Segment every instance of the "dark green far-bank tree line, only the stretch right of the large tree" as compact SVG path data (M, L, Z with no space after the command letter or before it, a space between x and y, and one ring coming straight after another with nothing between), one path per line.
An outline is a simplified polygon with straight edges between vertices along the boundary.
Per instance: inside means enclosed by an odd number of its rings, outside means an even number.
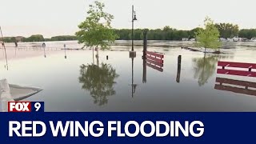
M239 30L238 25L231 23L215 23L214 24L220 33L220 38L234 38L238 36L240 38L254 38L256 37L256 29L242 29ZM163 29L148 30L147 38L149 40L182 40L182 38L195 38L196 32L202 30L202 28L197 27L193 30L177 30L170 28L170 26L165 26ZM131 39L131 30L121 29L115 30L119 36L119 40L130 40ZM135 29L134 30L134 40L143 39L143 30Z

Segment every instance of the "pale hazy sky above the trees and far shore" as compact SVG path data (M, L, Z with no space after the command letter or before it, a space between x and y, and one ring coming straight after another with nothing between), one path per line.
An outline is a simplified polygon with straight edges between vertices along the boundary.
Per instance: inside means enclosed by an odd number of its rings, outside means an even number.
M202 26L206 15L214 22L256 28L254 0L99 0L114 15L114 28L130 28L131 5L138 16L135 28L171 26L190 30ZM4 36L74 34L94 0L1 0L0 26Z

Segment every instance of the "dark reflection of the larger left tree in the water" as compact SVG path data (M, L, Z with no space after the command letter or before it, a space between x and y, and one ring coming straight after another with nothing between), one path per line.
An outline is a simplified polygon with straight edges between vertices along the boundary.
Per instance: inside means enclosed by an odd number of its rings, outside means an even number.
M114 95L114 82L118 78L116 70L106 63L100 66L94 64L80 66L79 82L82 89L89 90L94 98L94 103L103 106L108 102L107 97Z

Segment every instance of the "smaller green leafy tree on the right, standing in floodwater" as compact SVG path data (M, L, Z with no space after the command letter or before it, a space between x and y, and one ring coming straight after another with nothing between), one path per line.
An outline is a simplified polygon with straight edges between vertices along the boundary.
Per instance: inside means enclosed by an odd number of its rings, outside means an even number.
M218 50L222 43L219 42L219 31L209 17L204 21L204 29L199 29L196 33L196 46Z

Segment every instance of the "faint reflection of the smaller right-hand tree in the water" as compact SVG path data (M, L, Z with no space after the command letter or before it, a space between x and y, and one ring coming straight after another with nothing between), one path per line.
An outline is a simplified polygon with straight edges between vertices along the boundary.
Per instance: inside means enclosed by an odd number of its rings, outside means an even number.
M194 78L198 78L198 85L203 86L208 79L216 71L216 64L218 62L218 55L204 56L204 58L194 58Z

